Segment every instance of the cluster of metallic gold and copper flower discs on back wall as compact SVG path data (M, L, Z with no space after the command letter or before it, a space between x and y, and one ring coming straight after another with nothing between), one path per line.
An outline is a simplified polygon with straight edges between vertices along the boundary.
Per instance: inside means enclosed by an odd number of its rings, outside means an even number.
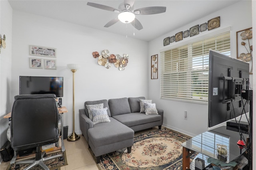
M92 52L92 56L98 58L98 64L105 66L106 69L109 69L111 63L114 63L115 67L118 67L120 71L123 71L128 63L129 56L127 54L123 54L123 57L121 57L119 54L110 54L107 49L103 50L101 54L102 55L100 55L98 51Z

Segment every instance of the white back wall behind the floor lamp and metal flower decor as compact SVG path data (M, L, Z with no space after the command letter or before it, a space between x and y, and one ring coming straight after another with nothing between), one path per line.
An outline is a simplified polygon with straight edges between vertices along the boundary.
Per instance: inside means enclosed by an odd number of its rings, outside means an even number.
M126 30L124 30L126 31ZM85 101L121 97L138 97L148 94L147 57L148 42L126 38L75 24L13 11L13 51L11 99L19 94L19 76L63 76L64 97L62 105L64 126L72 132L72 72L68 63L79 63L81 68L75 73L75 131L81 134L78 109L84 108ZM57 48L57 69L30 69L30 45ZM119 71L112 64L110 69L98 65L92 57L93 51L101 53L108 49L110 53L129 55L128 65ZM47 57L40 57L47 58Z

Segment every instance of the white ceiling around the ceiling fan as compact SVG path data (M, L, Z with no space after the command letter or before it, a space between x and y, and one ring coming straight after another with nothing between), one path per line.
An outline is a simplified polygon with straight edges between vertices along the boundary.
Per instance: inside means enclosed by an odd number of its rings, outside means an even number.
M87 2L113 8L123 0L9 0L14 10L54 18L81 26L95 28L114 34L150 41L178 29L208 14L230 6L239 0L135 0L134 8L166 6L166 12L154 15L136 15L143 29L138 31L131 24L118 22L109 28L104 25L116 18L118 13L87 6ZM217 16L216 16L217 17ZM211 18L209 18L211 19ZM200 24L200 23L199 23Z

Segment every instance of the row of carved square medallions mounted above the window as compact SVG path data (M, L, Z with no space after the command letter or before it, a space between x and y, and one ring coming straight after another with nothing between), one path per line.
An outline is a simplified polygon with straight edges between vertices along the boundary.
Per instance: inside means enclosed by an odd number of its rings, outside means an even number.
M206 31L208 29L212 30L214 28L220 27L220 17L212 18L207 23L192 26L189 30L186 30L184 32L178 32L175 34L175 36L164 38L164 46L169 45L172 42L178 42L180 40L183 40L183 38L187 38L188 36L196 36L200 32Z

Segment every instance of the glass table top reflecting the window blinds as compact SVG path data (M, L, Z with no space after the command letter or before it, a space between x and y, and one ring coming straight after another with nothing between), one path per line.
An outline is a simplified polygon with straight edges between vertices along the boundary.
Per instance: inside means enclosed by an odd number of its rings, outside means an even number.
M243 134L248 137L248 134ZM229 163L238 158L245 148L238 148L239 132L226 129L226 126L214 128L199 134L182 144L183 147L202 153L210 158Z

